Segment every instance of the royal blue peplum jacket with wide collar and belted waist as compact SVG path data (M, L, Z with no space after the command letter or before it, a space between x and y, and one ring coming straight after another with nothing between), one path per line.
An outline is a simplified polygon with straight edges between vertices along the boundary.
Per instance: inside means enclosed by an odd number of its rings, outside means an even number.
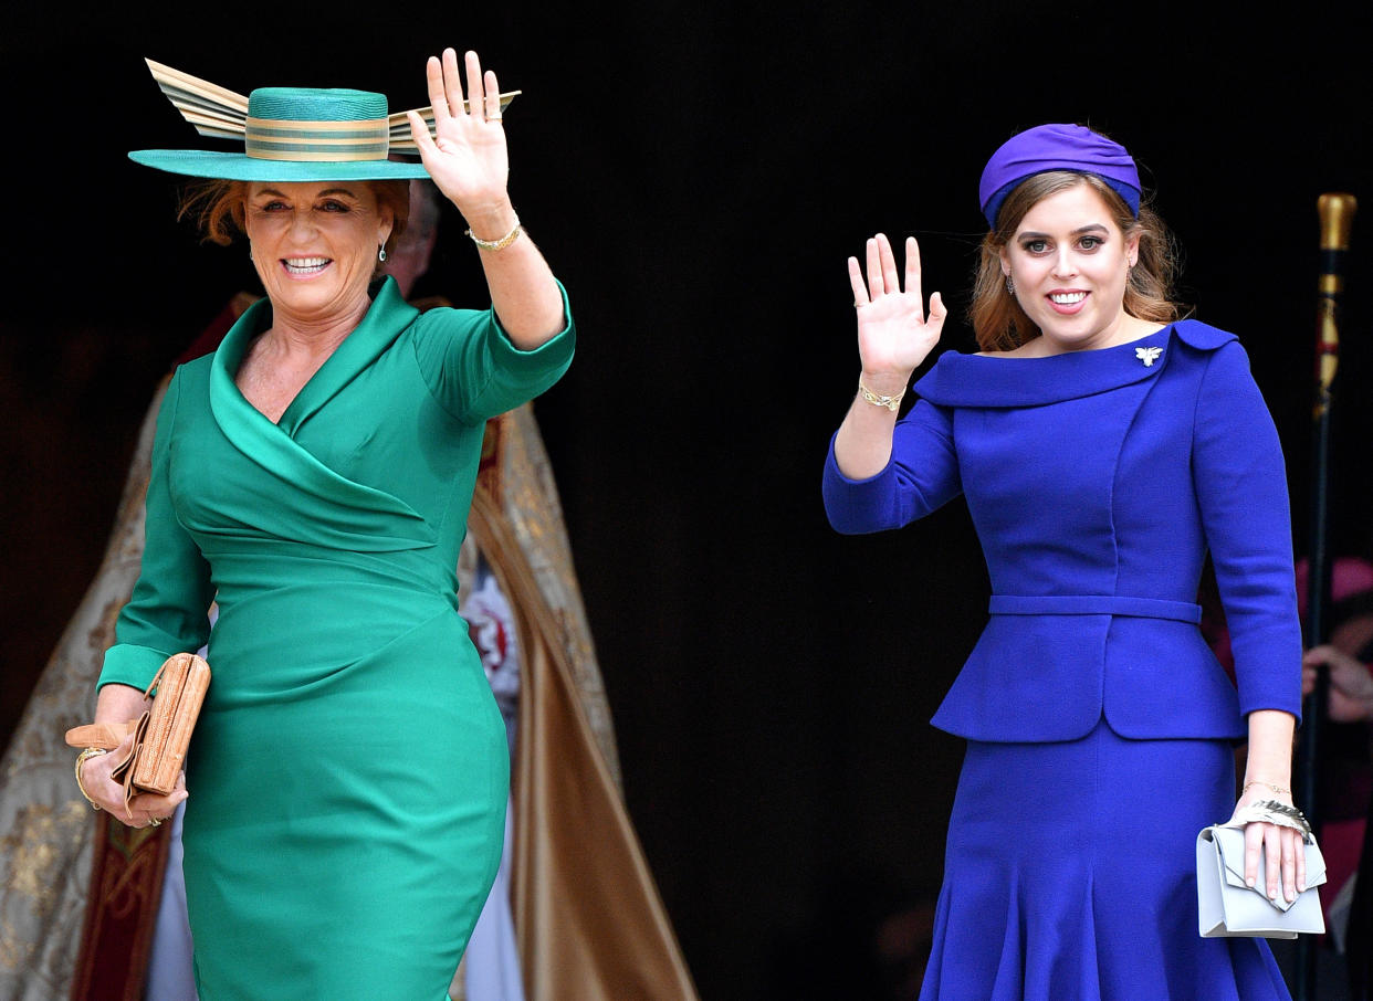
M1157 349L1157 350L1155 350ZM843 533L894 529L960 493L990 621L934 725L971 740L1245 736L1300 714L1302 634L1282 453L1233 334L1182 320L1045 358L945 353L892 459L824 474ZM1215 563L1238 691L1197 629Z

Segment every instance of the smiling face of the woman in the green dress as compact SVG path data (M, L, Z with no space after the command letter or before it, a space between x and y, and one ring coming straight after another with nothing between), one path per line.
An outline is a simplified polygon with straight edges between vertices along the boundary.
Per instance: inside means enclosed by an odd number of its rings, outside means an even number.
M365 309L393 213L367 181L253 183L244 229L279 319L320 324Z

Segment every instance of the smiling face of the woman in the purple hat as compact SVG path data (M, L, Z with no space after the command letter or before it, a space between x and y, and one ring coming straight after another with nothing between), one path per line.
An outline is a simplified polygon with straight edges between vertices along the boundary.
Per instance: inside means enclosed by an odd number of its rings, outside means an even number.
M1046 347L1108 347L1138 336L1124 312L1138 250L1138 236L1126 236L1083 181L1031 206L1001 250L1001 271Z

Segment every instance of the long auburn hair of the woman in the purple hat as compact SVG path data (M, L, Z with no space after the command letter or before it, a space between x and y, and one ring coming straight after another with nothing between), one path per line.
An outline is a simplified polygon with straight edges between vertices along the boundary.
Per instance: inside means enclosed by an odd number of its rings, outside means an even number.
M1155 323L1173 323L1182 314L1182 308L1173 301L1173 280L1178 268L1173 235L1153 209L1141 203L1137 218L1126 200L1096 174L1046 170L1027 177L1006 195L997 211L997 225L982 238L982 257L968 309L982 350L1009 352L1039 335L1039 328L1006 288L1001 251L1015 238L1026 213L1049 195L1079 184L1086 184L1101 198L1126 239L1140 238L1140 255L1124 286L1124 312Z

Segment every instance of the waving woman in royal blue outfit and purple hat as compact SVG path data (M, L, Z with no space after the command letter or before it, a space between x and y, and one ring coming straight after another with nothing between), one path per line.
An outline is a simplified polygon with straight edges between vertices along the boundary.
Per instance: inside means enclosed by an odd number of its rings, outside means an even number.
M1167 235L1119 144L1030 129L980 203L982 350L945 353L899 422L947 310L935 292L925 313L914 239L903 276L880 233L850 258L862 375L824 476L844 533L964 494L991 578L934 718L968 751L921 998L1287 998L1260 939L1200 938L1193 847L1292 802L1302 641L1273 420L1234 335L1177 319ZM1197 630L1207 551L1237 689ZM1251 883L1304 888L1295 829L1249 822L1245 843Z

